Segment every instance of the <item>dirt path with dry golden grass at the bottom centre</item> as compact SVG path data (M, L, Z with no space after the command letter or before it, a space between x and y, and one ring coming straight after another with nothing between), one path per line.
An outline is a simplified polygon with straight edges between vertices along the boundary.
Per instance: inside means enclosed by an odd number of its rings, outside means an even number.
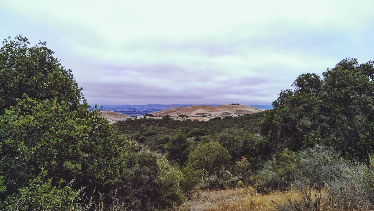
M229 190L205 190L200 195L194 196L192 199L184 202L177 211L187 210L210 210L219 207L221 204L233 202L239 198L246 196L248 193L245 189L229 189Z

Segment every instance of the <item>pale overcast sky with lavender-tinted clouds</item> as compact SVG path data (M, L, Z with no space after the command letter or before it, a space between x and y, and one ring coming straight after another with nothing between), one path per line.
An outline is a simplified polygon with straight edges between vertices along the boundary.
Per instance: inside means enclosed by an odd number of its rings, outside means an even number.
M298 75L374 60L374 1L0 0L90 104L271 104Z

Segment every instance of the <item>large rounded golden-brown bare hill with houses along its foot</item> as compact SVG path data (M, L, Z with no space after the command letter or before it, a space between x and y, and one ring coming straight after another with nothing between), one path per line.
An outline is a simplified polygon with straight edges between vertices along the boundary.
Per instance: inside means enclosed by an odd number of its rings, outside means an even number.
M223 117L223 116L241 116L244 114L254 114L264 111L260 108L242 105L221 105L221 106L187 106L168 108L161 111L153 112L154 116L180 116L187 115L188 117Z

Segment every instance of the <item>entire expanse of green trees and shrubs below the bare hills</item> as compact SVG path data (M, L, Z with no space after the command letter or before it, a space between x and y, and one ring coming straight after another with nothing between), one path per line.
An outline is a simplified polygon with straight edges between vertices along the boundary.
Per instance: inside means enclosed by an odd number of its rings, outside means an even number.
M0 76L0 210L170 210L237 187L297 191L279 210L374 207L373 62L302 74L257 114L114 126L45 42L5 40Z

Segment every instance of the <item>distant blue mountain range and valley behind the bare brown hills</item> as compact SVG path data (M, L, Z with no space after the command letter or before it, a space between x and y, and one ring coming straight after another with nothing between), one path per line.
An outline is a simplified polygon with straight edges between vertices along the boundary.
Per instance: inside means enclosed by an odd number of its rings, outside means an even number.
M201 106L219 106L220 104L199 104ZM153 113L168 108L186 107L186 106L197 106L196 104L146 104L146 105L98 105L102 106L102 111L116 111L122 114L135 117L143 114ZM261 109L272 109L270 105L248 105L255 108Z

